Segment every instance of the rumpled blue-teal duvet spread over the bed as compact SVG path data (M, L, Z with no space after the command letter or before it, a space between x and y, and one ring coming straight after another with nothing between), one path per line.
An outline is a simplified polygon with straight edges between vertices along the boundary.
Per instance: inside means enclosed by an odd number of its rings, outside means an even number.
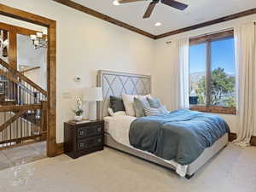
M229 126L217 115L177 110L135 119L129 139L135 148L189 165L228 132Z

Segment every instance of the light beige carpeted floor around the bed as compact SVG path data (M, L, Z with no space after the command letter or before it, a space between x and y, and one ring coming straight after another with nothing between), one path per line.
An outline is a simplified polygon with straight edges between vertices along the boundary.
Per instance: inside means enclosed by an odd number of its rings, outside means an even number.
M20 185L22 180L15 176L29 178ZM78 160L61 155L26 164L21 169L1 171L0 191L255 192L256 148L230 144L190 180L110 148Z

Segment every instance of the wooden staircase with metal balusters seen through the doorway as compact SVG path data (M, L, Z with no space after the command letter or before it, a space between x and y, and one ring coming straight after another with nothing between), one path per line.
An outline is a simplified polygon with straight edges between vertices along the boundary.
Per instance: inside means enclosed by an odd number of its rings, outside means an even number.
M0 58L0 149L45 140L47 91Z

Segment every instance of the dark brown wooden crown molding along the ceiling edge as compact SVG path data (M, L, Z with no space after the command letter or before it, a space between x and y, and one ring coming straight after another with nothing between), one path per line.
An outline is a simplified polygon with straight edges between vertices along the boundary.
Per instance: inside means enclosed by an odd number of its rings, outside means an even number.
M160 34L160 35L153 35L149 32L145 32L142 29L139 29L135 26L131 26L131 25L125 23L125 22L122 22L120 20L116 20L116 19L114 19L114 18L112 18L108 15L104 15L104 14L102 14L102 13L100 13L100 12L94 10L94 9L87 8L84 5L81 5L79 3L75 3L71 0L53 0L53 1L55 1L56 3L61 3L63 5L66 5L67 7L77 9L81 12L84 12L84 14L92 15L92 16L98 18L98 19L110 22L113 25L123 27L127 30L130 30L132 32L137 32L137 33L139 33L143 36L146 36L148 38L152 38L152 39L155 39L155 40L160 39L160 38L166 38L166 37L176 35L176 34L182 33L182 32L189 32L189 31L199 29L199 28L202 28L202 27L205 27L205 26L212 26L212 25L222 23L222 22L225 22L225 21L228 21L228 20L235 20L235 19L238 19L238 18L241 18L241 17L244 17L244 16L256 14L256 8L248 9L248 10L245 10L245 11L233 14L233 15L227 15L227 16L215 19L215 20L209 20L209 21L206 21L206 22L202 22L202 23L196 24L194 26L187 26L187 27L184 27L182 29L177 29L177 30L174 30L174 31L171 31L171 32L165 32L165 33Z

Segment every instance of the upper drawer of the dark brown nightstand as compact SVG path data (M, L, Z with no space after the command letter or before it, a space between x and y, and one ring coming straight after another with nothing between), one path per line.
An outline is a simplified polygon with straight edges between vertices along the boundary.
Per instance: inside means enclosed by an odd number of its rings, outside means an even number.
M78 138L92 137L102 134L102 125L78 128Z

